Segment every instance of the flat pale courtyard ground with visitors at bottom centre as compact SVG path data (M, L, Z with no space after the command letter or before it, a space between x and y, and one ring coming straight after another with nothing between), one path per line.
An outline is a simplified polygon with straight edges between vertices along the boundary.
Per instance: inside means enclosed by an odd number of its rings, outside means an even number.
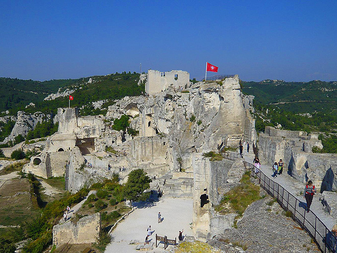
M158 224L158 212L161 213L163 221ZM112 242L107 246L105 252L139 252L136 247L143 245L147 236L147 228L151 225L153 234L150 237L151 252L162 252L162 248L155 248L156 234L175 239L181 229L183 235L193 236L191 223L193 217L192 198L170 198L163 197L154 205L139 206L124 221L119 223L111 232ZM130 243L135 244L130 244ZM163 244L160 244L163 246ZM170 247L170 246L168 246Z

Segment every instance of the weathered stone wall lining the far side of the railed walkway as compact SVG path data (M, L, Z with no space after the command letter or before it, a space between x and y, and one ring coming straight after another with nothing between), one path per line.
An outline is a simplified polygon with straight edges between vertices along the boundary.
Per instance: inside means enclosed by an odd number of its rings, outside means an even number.
M317 134L302 131L287 131L266 127L259 134L259 155L263 163L274 164L282 159L288 174L306 182L312 180L321 191L337 190L335 172L337 155L312 153L312 147L322 148Z

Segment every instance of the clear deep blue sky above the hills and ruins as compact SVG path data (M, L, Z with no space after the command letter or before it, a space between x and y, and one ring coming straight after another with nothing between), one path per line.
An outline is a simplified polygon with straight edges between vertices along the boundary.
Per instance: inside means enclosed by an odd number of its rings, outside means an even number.
M0 77L337 81L337 1L0 1ZM211 76L213 73L208 73Z

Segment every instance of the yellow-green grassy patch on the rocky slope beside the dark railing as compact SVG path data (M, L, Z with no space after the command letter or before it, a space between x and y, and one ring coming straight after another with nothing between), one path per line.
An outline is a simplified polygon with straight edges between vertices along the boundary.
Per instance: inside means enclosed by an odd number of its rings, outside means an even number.
M260 187L254 185L250 181L250 172L246 172L240 180L240 185L231 189L226 193L219 205L216 205L214 210L222 214L226 214L226 205L230 205L239 216L245 212L248 205L260 199ZM229 204L228 204L229 203Z

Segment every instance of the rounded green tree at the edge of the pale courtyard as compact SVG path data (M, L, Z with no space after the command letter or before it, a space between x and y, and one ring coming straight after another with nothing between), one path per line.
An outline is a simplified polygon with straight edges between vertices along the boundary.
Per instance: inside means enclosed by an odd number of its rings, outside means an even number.
M133 170L129 173L123 195L130 200L130 207L132 201L145 201L149 197L150 194L144 191L150 188L150 182L152 182L151 178L142 169Z

